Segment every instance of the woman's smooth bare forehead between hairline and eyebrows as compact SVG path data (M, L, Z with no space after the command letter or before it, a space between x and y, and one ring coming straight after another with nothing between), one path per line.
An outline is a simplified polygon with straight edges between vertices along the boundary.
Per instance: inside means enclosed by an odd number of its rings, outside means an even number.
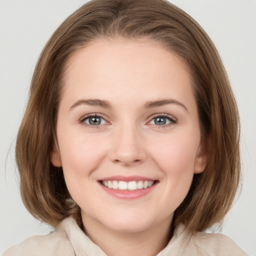
M113 94L115 98L129 94L136 97L139 93L141 100L143 96L150 100L163 98L169 85L176 88L176 97L191 90L190 72L184 61L148 39L93 41L69 58L64 77L64 93L69 96L75 91L80 97L102 98Z

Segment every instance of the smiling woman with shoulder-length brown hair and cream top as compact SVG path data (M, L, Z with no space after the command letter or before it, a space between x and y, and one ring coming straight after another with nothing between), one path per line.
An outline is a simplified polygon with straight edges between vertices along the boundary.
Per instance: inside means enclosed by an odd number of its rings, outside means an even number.
M56 230L6 255L245 255L199 232L235 195L237 116L186 13L162 0L83 5L40 55L16 143L23 202Z

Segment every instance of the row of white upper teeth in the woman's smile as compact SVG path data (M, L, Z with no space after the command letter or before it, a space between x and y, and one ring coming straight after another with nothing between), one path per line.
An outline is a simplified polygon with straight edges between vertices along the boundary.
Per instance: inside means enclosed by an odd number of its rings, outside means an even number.
M129 182L120 180L104 180L101 181L101 184L112 189L117 189L117 190L137 190L137 189L142 189L142 188L147 188L153 185L154 181L153 180L132 180Z

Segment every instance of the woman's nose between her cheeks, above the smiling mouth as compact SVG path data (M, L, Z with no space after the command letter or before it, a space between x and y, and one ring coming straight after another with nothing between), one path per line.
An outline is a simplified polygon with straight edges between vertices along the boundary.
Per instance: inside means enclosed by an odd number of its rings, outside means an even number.
M138 128L119 128L113 134L113 146L109 153L111 161L124 166L143 162L147 157L143 141L143 135Z

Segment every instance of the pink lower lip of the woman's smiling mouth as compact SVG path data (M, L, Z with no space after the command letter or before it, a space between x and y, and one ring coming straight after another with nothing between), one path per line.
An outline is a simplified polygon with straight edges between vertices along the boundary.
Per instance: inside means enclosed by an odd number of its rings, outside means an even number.
M113 188L108 188L102 185L100 182L99 184L102 187L102 189L108 194L110 194L111 196L114 196L119 199L136 199L151 192L155 188L157 182L154 182L154 184L151 185L150 187L141 188L138 190L116 190Z

